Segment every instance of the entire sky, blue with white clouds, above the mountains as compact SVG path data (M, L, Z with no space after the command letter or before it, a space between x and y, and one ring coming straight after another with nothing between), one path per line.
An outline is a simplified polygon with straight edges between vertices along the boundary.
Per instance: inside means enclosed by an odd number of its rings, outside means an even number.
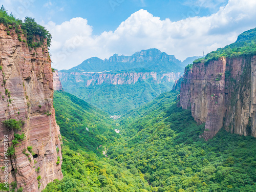
M236 41L256 27L255 0L1 0L51 32L52 67L157 48L184 60Z

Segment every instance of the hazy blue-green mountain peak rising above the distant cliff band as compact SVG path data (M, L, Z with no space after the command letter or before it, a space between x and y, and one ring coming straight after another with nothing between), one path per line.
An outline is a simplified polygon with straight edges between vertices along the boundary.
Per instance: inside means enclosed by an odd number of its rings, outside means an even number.
M181 61L174 55L167 55L158 49L148 49L136 52L132 56L114 54L109 59L102 60L92 57L84 60L80 65L70 70L61 72L102 72L130 70L134 68L145 68L154 72L182 72Z

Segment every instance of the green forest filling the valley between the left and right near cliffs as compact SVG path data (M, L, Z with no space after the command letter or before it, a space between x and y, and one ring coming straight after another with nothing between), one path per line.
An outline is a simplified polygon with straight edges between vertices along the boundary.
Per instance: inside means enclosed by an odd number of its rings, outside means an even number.
M101 117L97 129L105 122L109 126L103 128L102 135L113 138L92 137L90 143L96 145L87 148L74 142L89 133L69 138L63 131L78 133L79 129L72 128L75 119L65 129L61 124L67 116L60 110L61 103L65 101L69 113L75 114L80 99L55 92L56 119L63 140L67 140L62 149L64 179L48 184L44 191L255 191L256 139L222 130L204 141L200 138L204 124L198 125L190 111L177 107L178 94L161 94L117 121L103 118L104 113L84 102L88 113L74 118L85 122L90 116ZM113 134L114 129L120 134ZM108 157L95 148L99 144L106 147Z

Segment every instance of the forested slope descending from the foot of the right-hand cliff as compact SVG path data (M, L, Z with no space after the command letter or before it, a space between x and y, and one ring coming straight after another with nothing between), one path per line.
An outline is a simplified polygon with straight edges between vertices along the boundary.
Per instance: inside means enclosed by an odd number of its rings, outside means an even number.
M123 137L109 157L137 169L158 191L255 191L255 138L223 130L200 139L204 125L177 108L176 96L162 94L122 120Z

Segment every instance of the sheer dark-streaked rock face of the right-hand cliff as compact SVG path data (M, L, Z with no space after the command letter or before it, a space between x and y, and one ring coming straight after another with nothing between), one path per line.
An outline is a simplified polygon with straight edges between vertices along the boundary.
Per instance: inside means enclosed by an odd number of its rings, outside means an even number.
M179 106L205 122L208 140L227 131L256 137L256 56L194 63L184 74Z

